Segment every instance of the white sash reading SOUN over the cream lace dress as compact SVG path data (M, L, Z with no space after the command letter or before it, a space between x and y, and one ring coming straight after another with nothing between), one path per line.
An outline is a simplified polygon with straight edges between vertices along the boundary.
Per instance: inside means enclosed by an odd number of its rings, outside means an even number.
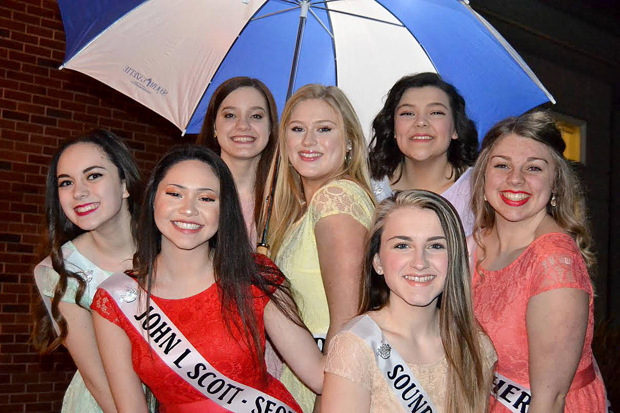
M370 346L381 374L405 412L438 412L433 401L420 385L420 381L396 349L387 343L381 328L370 316L361 315L353 318L343 330L355 333Z

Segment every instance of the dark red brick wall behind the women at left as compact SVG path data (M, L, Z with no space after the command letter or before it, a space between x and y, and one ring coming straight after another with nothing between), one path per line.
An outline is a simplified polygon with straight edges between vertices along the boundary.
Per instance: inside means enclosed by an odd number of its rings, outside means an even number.
M125 137L147 172L181 138L161 116L87 76L59 71L64 31L55 1L0 2L0 411L57 412L75 367L28 342L42 230L43 185L58 144L93 128Z

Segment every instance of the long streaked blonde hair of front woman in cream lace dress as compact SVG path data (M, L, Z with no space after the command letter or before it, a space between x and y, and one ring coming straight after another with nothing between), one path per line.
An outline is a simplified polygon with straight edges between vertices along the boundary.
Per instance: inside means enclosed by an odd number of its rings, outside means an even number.
M379 203L373 215L363 261L359 313L387 305L390 290L373 267L387 216L401 208L429 209L437 215L446 236L448 272L441 293L440 334L448 360L446 413L487 411L492 369L485 371L482 328L474 316L471 277L463 224L458 212L442 196L421 189L397 191Z

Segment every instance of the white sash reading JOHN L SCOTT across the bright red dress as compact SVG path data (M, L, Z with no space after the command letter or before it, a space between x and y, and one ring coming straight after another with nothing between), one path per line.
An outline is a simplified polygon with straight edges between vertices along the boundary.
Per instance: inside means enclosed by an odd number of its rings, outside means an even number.
M117 300L118 308L164 363L206 398L235 413L294 413L280 400L218 372L153 300L148 309L141 306L146 311L138 310L140 287L131 277L117 272L99 287ZM146 303L146 294L141 302Z

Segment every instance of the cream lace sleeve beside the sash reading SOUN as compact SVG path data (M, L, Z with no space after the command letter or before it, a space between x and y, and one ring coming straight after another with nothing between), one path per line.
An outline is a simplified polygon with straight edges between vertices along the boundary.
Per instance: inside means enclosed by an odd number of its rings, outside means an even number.
M370 390L375 366L370 347L355 334L341 331L329 342L325 372L344 377Z

